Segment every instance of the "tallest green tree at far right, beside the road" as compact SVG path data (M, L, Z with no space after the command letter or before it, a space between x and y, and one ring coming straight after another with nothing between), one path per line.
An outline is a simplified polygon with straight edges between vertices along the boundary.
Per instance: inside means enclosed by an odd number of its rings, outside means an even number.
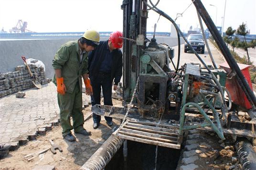
M237 28L236 34L237 35L242 35L242 36L244 36L244 38L248 34L248 31L246 30L246 24L244 24L244 22L242 23L242 25L239 25L239 27ZM246 42L246 38L245 38L245 41L242 41L242 42L238 43L238 47L242 48L246 51L247 58L248 58L248 64L250 64L250 56L249 56L249 53L248 53L248 48L250 48L250 46Z

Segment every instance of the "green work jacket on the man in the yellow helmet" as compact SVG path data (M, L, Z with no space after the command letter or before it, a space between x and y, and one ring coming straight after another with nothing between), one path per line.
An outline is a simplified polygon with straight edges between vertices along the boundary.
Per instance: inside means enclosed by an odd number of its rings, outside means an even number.
M82 62L80 61L78 40L65 43L54 55L53 69L61 69L67 93L73 93L77 81L82 92L82 75L88 73L88 52L83 54ZM55 74L53 83L57 85Z

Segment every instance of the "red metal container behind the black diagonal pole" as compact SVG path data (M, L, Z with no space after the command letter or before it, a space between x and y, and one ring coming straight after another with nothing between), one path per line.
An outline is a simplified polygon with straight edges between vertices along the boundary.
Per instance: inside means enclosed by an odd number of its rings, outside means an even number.
M253 89L251 77L249 74L250 65L240 64L240 63L237 63L237 65L239 66L242 74L245 76L245 79L248 82L250 88ZM244 91L242 90L241 86L236 80L234 73L231 73L231 69L229 65L225 62L223 64L220 64L220 67L227 72L226 88L230 92L233 103L235 103L236 105L242 106L246 109L252 108L250 102L245 96Z

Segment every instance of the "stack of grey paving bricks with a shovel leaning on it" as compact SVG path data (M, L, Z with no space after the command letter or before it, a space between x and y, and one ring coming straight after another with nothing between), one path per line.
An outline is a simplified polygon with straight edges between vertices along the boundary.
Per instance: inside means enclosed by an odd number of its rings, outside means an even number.
M50 79L45 77L42 66L37 67L35 64L28 65L36 81L42 85L50 83ZM15 67L15 72L0 74L0 97L34 87L32 80L25 65Z

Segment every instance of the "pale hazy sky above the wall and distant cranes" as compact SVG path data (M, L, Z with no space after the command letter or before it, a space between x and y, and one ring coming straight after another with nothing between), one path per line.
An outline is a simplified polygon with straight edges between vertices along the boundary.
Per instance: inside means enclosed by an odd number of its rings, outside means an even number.
M33 32L99 32L122 31L123 0L0 0L0 29L9 32L18 20L27 21L27 29ZM156 2L157 0L152 0ZM225 0L202 0L217 26L222 25ZM160 0L157 7L173 20L182 13L192 0ZM214 5L214 6L211 6ZM157 23L157 32L171 32L171 22L150 10L147 31L153 32ZM216 17L217 16L217 17ZM237 29L242 22L247 30L256 34L256 0L226 0L224 31L232 26ZM176 20L180 29L187 32L200 27L194 5L192 4ZM204 28L206 26L204 25Z

